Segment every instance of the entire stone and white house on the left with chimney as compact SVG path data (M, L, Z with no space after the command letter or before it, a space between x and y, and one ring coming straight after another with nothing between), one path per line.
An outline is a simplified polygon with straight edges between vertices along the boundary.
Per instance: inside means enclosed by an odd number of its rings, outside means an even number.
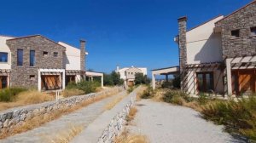
M79 82L85 76L103 77L98 72L86 75L86 54L84 40L77 49L41 35L0 36L0 89L65 89L67 83Z

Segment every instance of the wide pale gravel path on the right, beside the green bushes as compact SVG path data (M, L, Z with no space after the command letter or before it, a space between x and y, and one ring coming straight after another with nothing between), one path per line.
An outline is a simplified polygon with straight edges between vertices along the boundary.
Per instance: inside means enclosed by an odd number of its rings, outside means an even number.
M131 133L146 135L151 143L241 142L223 132L223 126L207 122L190 108L141 100L137 109L134 125L128 129Z

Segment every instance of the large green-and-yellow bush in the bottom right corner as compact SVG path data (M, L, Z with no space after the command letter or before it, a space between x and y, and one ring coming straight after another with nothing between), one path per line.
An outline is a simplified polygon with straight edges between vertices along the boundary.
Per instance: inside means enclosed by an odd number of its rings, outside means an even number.
M202 107L205 118L220 124L231 124L241 134L256 140L256 98L214 101Z

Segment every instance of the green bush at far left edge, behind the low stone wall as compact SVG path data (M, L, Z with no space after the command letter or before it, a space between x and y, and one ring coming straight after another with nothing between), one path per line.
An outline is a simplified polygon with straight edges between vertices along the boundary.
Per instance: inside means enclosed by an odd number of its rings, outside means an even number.
M22 91L26 91L24 88L9 88L9 89L0 89L0 101L1 102L10 102L15 100L15 96Z

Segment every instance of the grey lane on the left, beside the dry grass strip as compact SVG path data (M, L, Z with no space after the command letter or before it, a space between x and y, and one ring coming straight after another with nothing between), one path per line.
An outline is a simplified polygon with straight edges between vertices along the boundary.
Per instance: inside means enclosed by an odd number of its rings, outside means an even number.
M61 132L70 129L71 126L82 125L86 128L91 122L93 122L96 117L104 112L104 106L108 104L110 100L116 98L116 96L124 95L126 91L123 91L114 96L108 97L106 99L97 101L89 106L85 106L84 108L67 114L65 116L60 117L52 122L45 123L43 126L32 129L22 134L16 134L11 136L5 140L1 140L3 143L16 143L16 142L24 142L24 143L40 143L40 142L50 142L49 139L55 138L56 135Z

